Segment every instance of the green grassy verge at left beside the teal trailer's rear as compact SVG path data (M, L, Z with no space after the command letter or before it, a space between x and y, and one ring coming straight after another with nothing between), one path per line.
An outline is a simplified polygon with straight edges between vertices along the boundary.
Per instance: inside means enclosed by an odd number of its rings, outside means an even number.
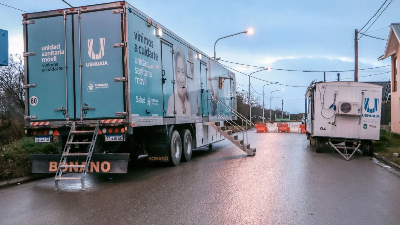
M0 181L30 174L29 154L58 153L58 143L35 143L34 137L24 137L0 146Z

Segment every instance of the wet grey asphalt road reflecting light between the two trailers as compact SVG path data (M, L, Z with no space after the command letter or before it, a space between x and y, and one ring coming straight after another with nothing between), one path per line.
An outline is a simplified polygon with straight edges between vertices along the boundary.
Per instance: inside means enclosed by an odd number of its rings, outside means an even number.
M42 179L0 189L0 224L400 224L400 173L304 134L255 133L248 157L222 141L176 167L139 159L128 174Z

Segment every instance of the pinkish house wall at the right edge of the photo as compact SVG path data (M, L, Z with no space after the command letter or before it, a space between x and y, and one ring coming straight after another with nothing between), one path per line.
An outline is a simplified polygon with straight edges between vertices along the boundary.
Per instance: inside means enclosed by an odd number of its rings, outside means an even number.
M394 58L397 57L397 91L393 92L394 90L394 71L393 71L393 60ZM391 57L391 65L392 65L392 73L391 73L391 78L392 78L392 94L391 94L391 111L392 111L392 116L391 116L391 130L392 132L400 133L400 114L399 114L399 108L400 108L400 86L399 86L399 66L400 66L400 45L397 45L397 51L395 54L392 55Z

